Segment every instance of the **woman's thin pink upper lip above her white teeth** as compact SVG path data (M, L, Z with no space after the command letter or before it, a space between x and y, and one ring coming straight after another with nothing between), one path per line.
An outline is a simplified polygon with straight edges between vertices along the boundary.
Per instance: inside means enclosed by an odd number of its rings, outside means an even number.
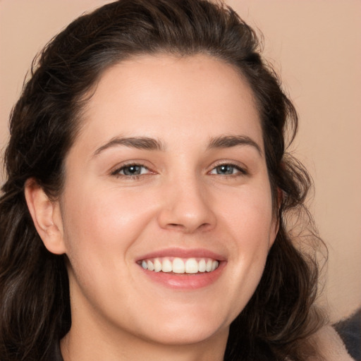
M141 261L142 259L148 258L158 258L158 257L179 257L179 258L212 258L217 261L226 261L226 257L220 255L219 253L212 252L204 248L164 248L162 250L157 250L149 252L146 255L142 255L137 258L136 261Z

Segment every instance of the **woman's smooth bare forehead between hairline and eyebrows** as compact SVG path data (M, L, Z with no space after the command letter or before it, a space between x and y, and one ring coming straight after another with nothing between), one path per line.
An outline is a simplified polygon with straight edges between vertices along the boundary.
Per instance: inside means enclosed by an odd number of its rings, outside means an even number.
M81 137L247 133L262 147L249 85L207 55L138 56L106 69L82 113ZM116 134L119 133L119 134ZM142 133L142 134L137 134ZM161 133L161 134L160 134Z

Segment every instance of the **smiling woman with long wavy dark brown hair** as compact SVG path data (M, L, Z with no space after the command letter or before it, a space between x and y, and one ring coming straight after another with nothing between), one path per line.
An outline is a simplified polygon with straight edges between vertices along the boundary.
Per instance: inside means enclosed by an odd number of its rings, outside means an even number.
M286 229L310 219L296 129L230 8L121 0L71 23L11 115L1 360L325 359L317 264Z

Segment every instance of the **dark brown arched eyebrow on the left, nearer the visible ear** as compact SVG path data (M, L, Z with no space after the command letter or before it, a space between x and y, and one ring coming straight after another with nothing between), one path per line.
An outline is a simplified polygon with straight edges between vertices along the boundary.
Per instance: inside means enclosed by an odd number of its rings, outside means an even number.
M105 149L115 147L117 145L123 145L125 147L145 149L145 150L164 150L164 145L160 140L149 137L114 137L106 144L99 147L93 154L97 156Z

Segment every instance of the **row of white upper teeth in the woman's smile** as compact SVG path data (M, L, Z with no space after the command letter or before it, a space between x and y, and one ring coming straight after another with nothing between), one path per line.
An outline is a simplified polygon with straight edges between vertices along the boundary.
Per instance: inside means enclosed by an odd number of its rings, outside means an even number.
M197 272L211 272L219 267L219 262L211 258L171 258L161 257L143 259L142 267L155 272L174 272L175 274L196 274Z

